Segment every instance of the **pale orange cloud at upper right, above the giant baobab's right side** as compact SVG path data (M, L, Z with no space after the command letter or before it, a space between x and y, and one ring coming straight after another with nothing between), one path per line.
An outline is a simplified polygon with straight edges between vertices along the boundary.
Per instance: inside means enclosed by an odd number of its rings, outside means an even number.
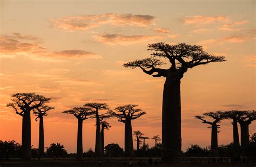
M205 16L186 16L182 18L185 25L208 25L215 22L225 22L229 21L230 18L226 16L216 16L216 17L205 17Z

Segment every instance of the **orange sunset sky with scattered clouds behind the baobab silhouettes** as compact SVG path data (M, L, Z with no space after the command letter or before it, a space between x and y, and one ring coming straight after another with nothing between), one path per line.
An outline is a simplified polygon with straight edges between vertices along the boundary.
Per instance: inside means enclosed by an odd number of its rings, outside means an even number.
M211 129L194 115L255 110L255 1L2 0L0 6L0 140L21 143L22 117L6 107L17 92L52 99L55 110L44 118L45 147L59 142L75 153L77 120L62 112L94 102L112 109L138 104L147 113L132 120L132 130L161 136L165 78L122 66L150 57L147 44L156 42L200 45L227 60L189 69L181 79L183 151L211 144ZM35 118L31 140L37 148ZM105 145L124 147L124 124L108 121ZM95 123L84 121L84 151L94 150ZM231 143L231 120L221 121L219 130L219 144ZM256 133L256 122L250 133ZM152 139L146 143L154 146Z

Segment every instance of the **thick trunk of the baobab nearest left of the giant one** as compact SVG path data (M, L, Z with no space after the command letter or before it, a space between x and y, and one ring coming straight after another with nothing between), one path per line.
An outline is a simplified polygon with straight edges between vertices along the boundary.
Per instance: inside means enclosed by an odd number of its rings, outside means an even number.
M124 152L125 156L131 157L133 153L133 142L132 142L132 124L131 120L125 120L125 130L124 130Z

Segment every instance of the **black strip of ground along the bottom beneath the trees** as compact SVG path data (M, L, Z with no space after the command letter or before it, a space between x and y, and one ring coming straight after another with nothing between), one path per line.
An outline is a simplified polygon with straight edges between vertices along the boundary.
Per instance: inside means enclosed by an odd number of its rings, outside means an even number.
M160 162L160 158L153 158L153 163L149 164L149 158L104 158L102 164L99 164L98 158L85 158L84 161L76 161L74 158L60 158L60 159L52 159L52 158L43 158L41 161L38 159L32 159L30 162L24 162L20 159L9 159L0 160L0 167L125 167L125 166L159 166L159 167L186 167L186 166L200 166L200 167L246 167L252 166L255 167L256 163L247 162L247 163L230 163L230 162L212 162L210 158L184 158L181 164L163 164ZM140 163L138 163L140 161ZM132 163L130 165L130 163Z

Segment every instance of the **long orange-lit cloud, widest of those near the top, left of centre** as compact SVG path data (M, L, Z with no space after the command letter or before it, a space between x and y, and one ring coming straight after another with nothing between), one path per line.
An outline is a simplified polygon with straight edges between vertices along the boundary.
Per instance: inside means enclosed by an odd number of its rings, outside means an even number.
M152 25L154 17L150 15L131 14L131 13L104 13L98 15L71 16L53 19L53 26L66 30L89 30L92 27L98 27L104 24L114 26L142 26Z

